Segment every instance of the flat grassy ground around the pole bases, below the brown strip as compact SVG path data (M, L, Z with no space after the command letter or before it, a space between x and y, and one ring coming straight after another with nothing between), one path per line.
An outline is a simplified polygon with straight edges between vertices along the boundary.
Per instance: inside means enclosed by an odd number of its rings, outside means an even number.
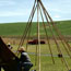
M20 39L17 39L16 42L19 44ZM61 42L58 40L58 43L59 43L60 50L63 55L66 62L62 58L58 57L58 54L59 54L58 48L57 48L55 42L52 39L50 39L50 46L51 46L55 64L52 62L51 54L50 54L47 43L45 45L40 45L40 58L38 56L38 48L39 48L38 46L27 45L27 48L26 48L26 44L23 44L25 49L27 49L26 51L28 52L31 60L34 64L34 67L32 69L38 70L38 64L39 64L39 59L40 59L40 69L42 69L40 71L68 71L68 69L70 70L71 69L71 58L67 54L67 50L63 48ZM12 46L13 46L12 51L17 50L17 47L19 47L17 44L12 44ZM69 45L71 46L71 43L69 43ZM68 47L67 47L67 49L68 49ZM71 55L71 51L69 49L68 49L68 51Z

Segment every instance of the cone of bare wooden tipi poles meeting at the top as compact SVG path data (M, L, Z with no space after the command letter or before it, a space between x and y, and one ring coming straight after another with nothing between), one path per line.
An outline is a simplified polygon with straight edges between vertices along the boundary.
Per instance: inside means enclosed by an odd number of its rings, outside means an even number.
M27 25L26 25L26 27L25 27L25 31L24 31L24 33L23 33L23 36L22 36L22 38L21 38L21 42L20 42L19 47L21 47L21 46L23 45L23 43L24 43L24 40L25 40L25 38L26 38L27 33L28 33L28 37L29 37L31 27L32 27L32 21L33 21L33 17L34 17L34 14L35 14L35 11L36 11L36 10L37 10L37 39L38 39L38 44L37 44L37 46L38 46L38 48L37 48L37 49L38 49L38 50L37 50L37 51L38 51L38 52L37 52L37 54L38 54L38 71L40 71L39 12L40 12L42 20L43 20L43 24L44 24L44 17L43 17L42 10L43 10L44 15L45 15L45 17L46 17L46 21L47 21L47 23L48 23L48 26L49 26L49 28L50 28L50 32L52 33L52 28L51 28L51 26L50 26L49 21L51 22L52 27L54 27L55 31L57 32L57 34L58 34L58 36L59 36L59 39L61 40L61 43L62 43L62 45L63 45L63 47L64 47L67 54L68 54L70 57L71 57L71 55L69 54L68 49L66 48L63 42L64 42L66 45L68 46L69 50L71 50L71 47L70 47L70 45L67 43L67 40L64 39L64 37L60 34L60 32L58 31L58 28L55 26L55 23L52 22L52 19L50 17L50 15L48 14L48 12L46 11L46 9L45 9L45 7L44 7L42 0L35 0L35 2L34 2L34 7L33 7L33 9L32 9L32 12L31 12L31 15L29 15ZM45 28L45 33L46 33L46 37L47 37L47 43L48 43L48 46L49 46L49 50L50 50L50 54L51 54L51 59L52 59L52 62L55 63L55 60L54 60L54 56L52 56L52 51L51 51L51 47L50 47L50 43L49 43L49 38L48 38L48 35L47 35L47 29L46 29L45 24L44 24L44 28ZM59 34L60 34L60 35L59 35ZM55 37L54 33L52 33L52 37L54 37L55 44L57 45L57 49L58 49L59 55L62 56L61 61L64 62L64 64L66 64L68 71L69 71L70 68L69 68L67 61L66 61L64 58L63 58L63 55L62 55L61 49L60 49L60 46L59 46L59 44L57 43L57 38ZM37 61L37 60L36 60L36 61Z

